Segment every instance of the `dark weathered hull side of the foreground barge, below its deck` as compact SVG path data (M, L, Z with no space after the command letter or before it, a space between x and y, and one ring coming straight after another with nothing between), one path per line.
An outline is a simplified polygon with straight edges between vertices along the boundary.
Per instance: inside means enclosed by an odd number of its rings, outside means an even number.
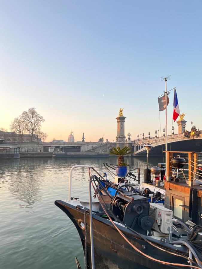
M76 209L74 205L68 204L61 200L55 201L55 205L57 205L57 207L63 210L74 223L81 238L84 250L84 229L81 226L81 223L84 223L84 210ZM103 269L187 268L187 267L164 265L159 262L155 262L151 259L148 259L145 256L142 256L140 253L136 252L123 239L123 237L114 228L114 226L111 224L109 220L101 218L94 214L92 221L93 221L95 268L103 268ZM91 255L90 255L90 243L89 243L90 242L89 215L86 215L86 224L87 224L87 261L88 261L88 268L91 268ZM127 230L127 228L120 225L118 227L127 237L127 239L145 254L152 256L155 259L163 260L165 262L181 263L184 265L189 265L186 259L167 253L156 247L153 247L145 240L134 235L130 230ZM156 240L156 242L157 244L159 244L159 241ZM182 251L182 254L186 255L185 247L171 248L170 245L167 243L162 243L161 248L163 248L163 246L165 246L164 248L166 248L167 250L180 249Z

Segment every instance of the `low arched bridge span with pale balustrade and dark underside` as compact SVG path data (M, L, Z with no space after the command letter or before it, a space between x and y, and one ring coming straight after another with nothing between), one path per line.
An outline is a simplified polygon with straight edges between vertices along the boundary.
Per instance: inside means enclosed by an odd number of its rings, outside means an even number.
M150 156L162 156L162 152L165 151L165 136L134 140L134 156L145 157L145 146L151 145ZM168 150L172 151L202 151L202 134L197 138L187 138L184 134L168 135Z

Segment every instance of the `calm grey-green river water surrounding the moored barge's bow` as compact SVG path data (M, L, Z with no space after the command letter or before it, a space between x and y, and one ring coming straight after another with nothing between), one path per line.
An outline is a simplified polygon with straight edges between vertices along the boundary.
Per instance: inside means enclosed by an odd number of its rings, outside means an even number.
M104 161L116 163L116 158L0 160L1 269L74 269L75 256L83 268L77 230L54 201L67 198L69 170L73 165L87 164L104 172ZM142 179L146 159L126 161L131 171L132 167L140 167ZM150 158L149 166L162 161ZM86 168L73 172L72 196L88 201Z

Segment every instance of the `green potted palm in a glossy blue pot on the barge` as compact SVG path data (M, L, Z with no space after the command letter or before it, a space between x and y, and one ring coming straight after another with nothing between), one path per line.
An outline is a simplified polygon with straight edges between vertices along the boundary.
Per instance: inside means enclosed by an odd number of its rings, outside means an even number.
M116 166L116 175L118 177L124 178L127 174L127 164L124 162L124 156L133 153L130 147L120 147L111 148L110 154L118 156L118 166Z

